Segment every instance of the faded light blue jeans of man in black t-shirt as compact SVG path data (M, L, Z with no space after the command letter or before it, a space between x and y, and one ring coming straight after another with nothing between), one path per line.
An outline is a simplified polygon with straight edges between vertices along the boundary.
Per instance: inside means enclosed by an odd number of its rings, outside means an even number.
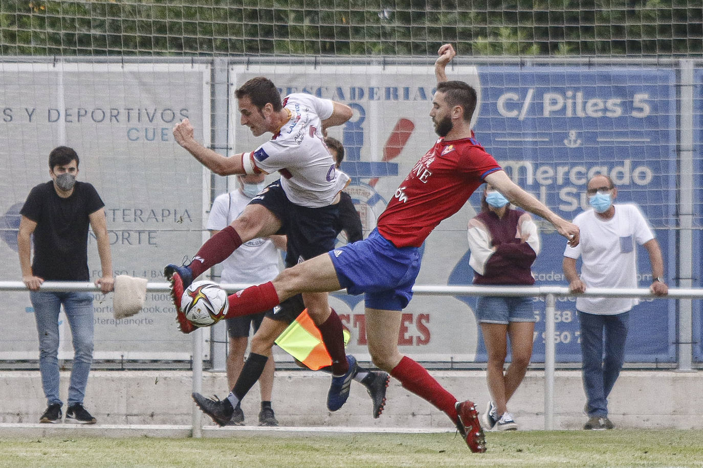
M68 406L83 403L93 361L93 295L91 293L43 293L30 291L39 333L39 372L47 404L63 402L58 396L58 313L63 304L71 327L73 366L68 387Z

